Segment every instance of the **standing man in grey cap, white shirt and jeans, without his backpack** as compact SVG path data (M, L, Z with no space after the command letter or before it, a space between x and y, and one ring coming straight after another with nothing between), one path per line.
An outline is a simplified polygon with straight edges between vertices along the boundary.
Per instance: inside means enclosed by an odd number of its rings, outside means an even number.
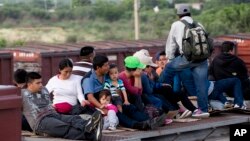
M182 42L185 32L185 24L181 20L192 24L194 21L191 18L191 13L188 5L180 5L177 8L177 15L180 20L174 22L171 25L168 39L166 42L166 56L168 57L168 67L173 71L181 71L186 68L191 68L191 73L194 79L194 84L197 91L197 102L199 110L193 112L193 117L209 116L208 113L208 93L207 93L207 74L208 74L208 63L207 60L201 62L189 62L183 54ZM199 23L198 23L199 24ZM202 26L202 25L201 25Z

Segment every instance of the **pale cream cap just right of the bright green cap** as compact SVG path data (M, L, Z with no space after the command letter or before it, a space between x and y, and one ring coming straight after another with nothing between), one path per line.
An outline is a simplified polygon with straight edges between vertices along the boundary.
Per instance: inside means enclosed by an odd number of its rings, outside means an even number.
M141 51L141 50L137 51L137 52L134 53L133 56L137 57L140 60L141 63L143 63L143 64L145 64L147 66L152 66L152 67L157 67L158 66L155 63L153 63L152 57L147 56L147 54L145 54L145 50L143 50L143 51Z

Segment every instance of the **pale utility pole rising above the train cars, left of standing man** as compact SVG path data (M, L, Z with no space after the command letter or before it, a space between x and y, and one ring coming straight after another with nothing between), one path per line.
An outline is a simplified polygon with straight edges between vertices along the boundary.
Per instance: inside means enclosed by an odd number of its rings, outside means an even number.
M134 0L135 40L139 40L140 38L139 8L140 8L140 0Z

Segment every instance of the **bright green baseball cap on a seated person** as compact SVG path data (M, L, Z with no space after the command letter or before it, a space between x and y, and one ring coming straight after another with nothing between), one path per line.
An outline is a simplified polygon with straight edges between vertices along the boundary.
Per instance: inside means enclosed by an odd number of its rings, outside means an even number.
M131 69L133 69L133 68L144 69L146 67L145 64L142 64L140 62L140 60L137 57L134 57L134 56L126 57L124 62L125 62L125 66L128 67L128 68L131 68Z

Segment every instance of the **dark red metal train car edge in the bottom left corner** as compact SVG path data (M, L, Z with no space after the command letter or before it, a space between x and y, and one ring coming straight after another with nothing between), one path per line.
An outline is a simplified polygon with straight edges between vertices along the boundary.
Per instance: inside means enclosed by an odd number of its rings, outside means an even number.
M14 86L0 86L0 137L2 141L21 141L20 89Z

